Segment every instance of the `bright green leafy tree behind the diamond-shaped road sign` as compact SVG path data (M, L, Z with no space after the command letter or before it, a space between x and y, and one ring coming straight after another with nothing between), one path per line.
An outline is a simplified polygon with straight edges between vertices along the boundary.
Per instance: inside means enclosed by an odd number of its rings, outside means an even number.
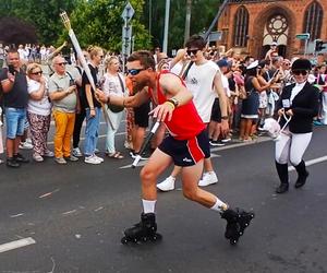
M149 48L149 36L140 22L144 0L131 0L135 14L133 25L134 49ZM72 27L82 47L99 45L112 51L121 51L122 47L122 11L124 0L83 0L71 14Z

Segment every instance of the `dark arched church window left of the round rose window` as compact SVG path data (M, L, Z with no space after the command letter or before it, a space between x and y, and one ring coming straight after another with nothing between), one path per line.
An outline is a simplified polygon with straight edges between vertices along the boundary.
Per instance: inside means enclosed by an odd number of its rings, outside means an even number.
M249 12L245 7L240 7L234 19L234 47L246 47L249 31Z

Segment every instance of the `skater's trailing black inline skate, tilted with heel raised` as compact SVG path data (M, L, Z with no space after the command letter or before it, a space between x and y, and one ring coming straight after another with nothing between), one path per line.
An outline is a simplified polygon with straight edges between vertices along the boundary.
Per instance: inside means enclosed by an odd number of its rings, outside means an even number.
M229 239L231 245L235 245L243 235L244 229L254 218L253 212L245 212L240 209L228 209L221 213L221 218L227 221L225 237Z

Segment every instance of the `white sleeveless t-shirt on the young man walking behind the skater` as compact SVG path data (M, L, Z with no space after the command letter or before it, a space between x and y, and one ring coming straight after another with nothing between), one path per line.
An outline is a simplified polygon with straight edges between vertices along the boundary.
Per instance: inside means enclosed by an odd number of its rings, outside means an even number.
M213 61L191 67L185 79L187 88L193 94L195 108L203 122L210 122L211 108L217 93L214 87L214 78L219 71L218 66Z

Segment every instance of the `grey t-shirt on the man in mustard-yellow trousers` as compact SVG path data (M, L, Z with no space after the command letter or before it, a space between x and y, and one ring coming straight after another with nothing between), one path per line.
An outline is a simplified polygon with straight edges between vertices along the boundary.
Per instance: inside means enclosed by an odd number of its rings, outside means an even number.
M63 75L59 75L57 73L52 74L49 80L49 94L53 92L65 92L70 86L71 80L72 79L68 73ZM62 99L52 100L52 103L53 110L59 110L63 112L75 112L77 97L75 92L73 92Z

